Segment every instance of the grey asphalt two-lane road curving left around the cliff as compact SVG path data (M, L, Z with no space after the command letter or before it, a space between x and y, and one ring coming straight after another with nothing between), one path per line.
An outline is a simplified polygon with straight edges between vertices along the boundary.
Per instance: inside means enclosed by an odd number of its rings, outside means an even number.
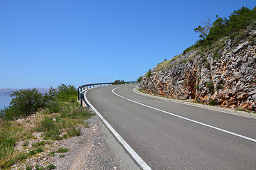
M256 142L221 131L256 139L255 119L142 96L135 86L105 86L86 96L151 169L256 169Z

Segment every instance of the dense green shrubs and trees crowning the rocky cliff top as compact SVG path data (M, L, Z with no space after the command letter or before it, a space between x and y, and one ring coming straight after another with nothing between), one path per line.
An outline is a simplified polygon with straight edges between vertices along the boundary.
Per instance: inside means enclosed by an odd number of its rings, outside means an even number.
M252 43L255 41L256 35L250 36L248 29L256 26L256 6L252 10L242 7L238 11L231 13L229 18L220 18L216 16L216 20L211 24L210 21L203 21L203 26L195 28L196 33L200 33L200 40L194 45L183 51L183 54L190 50L220 50L226 38L233 40L233 46L238 45L240 40L247 38ZM213 47L214 46L214 47ZM217 52L215 52L217 54Z

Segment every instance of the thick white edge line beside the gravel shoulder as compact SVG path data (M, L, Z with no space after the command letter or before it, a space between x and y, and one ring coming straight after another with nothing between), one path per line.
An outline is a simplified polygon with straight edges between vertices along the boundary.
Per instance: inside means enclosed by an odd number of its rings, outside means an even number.
M87 91L89 91L89 90L87 90ZM103 116L97 111L97 109L94 106L92 106L92 104L87 100L87 98L86 98L87 91L85 91L85 95L84 95L85 101L89 104L89 106L93 109L93 111L95 111L95 113L100 117L100 119L103 121L103 123L105 123L107 128L109 128L110 131L113 133L113 135L115 137L117 137L117 140L119 140L119 142L124 146L124 148L127 149L127 152L129 152L129 154L131 154L131 156L139 164L139 166L141 166L142 169L144 169L144 170L151 170L151 168L146 164L146 162L144 162L143 159L141 157L139 157L139 155L134 151L134 149L132 149L132 147L130 147L127 144L127 142L125 142L125 140L119 135L119 133L116 130L114 130L112 125L110 125L110 123L108 123L107 120L105 120L105 118L103 118Z

